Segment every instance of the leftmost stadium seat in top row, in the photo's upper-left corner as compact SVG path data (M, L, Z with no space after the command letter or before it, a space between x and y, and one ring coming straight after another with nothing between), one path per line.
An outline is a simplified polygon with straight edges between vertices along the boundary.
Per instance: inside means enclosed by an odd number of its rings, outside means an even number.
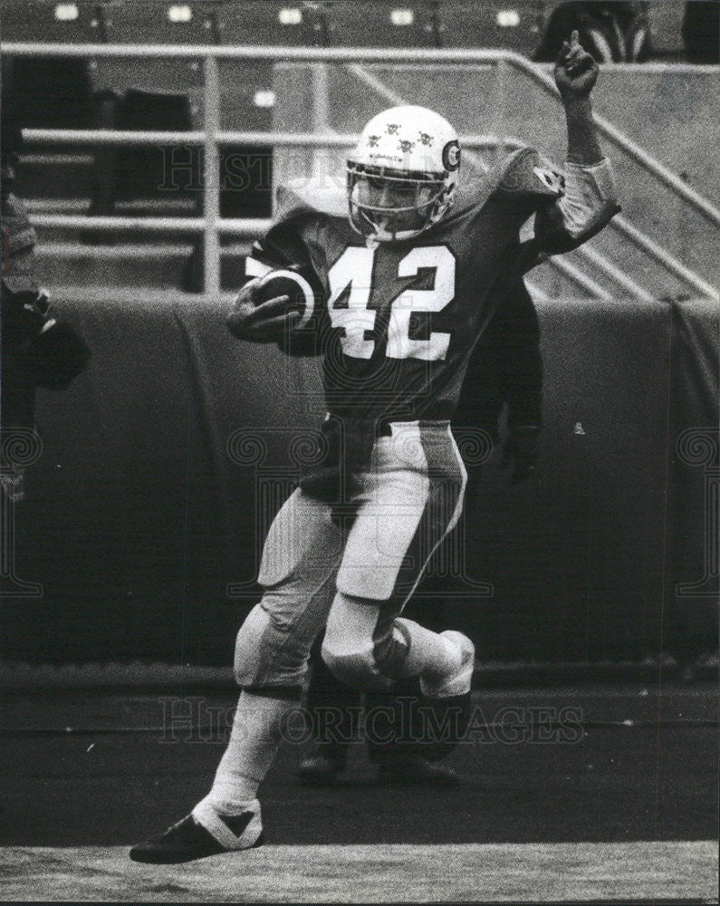
M3 0L0 5L3 41L100 42L97 6L89 0Z

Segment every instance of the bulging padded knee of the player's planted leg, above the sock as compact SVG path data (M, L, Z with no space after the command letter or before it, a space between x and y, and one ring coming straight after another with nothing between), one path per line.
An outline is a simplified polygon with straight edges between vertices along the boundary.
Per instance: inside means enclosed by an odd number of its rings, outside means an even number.
M235 680L245 689L302 686L308 648L255 604L235 640Z

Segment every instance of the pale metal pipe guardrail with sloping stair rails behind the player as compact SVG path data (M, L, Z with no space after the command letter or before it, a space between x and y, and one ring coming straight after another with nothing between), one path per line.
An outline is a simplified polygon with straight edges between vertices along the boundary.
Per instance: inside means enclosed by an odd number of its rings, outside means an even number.
M220 217L220 159L219 148L226 144L245 144L259 147L308 147L347 148L357 137L337 135L326 129L304 133L240 132L220 129L220 85L218 62L226 59L285 60L302 63L493 63L496 64L499 82L502 82L503 67L512 65L537 82L544 91L557 96L558 92L551 76L541 67L517 53L504 50L480 49L386 49L369 47L312 48L288 46L211 46L211 45L123 45L123 44L53 44L53 43L4 43L0 52L9 55L42 57L133 57L145 58L193 58L203 60L204 69L204 130L187 132L115 131L115 130L24 130L28 142L53 141L61 144L92 143L95 145L167 144L183 143L204 149L204 215L203 217L80 217L72 215L34 215L37 226L84 229L130 229L159 232L202 232L204 242L204 265L206 294L220 293L220 235L256 236L268 226L268 221L250 219L227 219ZM715 72L715 67L707 67ZM322 119L322 118L321 118ZM652 158L635 142L629 139L608 120L596 116L598 130L617 147L637 160L667 188L670 188L715 225L720 225L720 210L694 189L688 187L676 174L657 159ZM316 122L316 126L318 123ZM467 148L489 148L517 146L515 140L494 135L466 136ZM520 142L519 144L522 144ZM636 227L621 224L623 235L659 263L691 285L694 289L712 298L717 298L713 287L677 262L671 255L645 236ZM635 284L607 258L594 250L583 249L586 255L602 273L627 292L637 292L641 298L651 298L638 284ZM576 273L567 262L559 265L553 262L565 275L570 275L576 284L586 290L599 293L601 287L586 275Z

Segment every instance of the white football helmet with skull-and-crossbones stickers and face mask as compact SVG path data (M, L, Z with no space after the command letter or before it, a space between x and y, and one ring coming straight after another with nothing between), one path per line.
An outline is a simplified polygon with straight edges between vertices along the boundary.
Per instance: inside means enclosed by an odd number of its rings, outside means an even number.
M460 145L450 123L426 107L383 111L348 156L350 224L377 242L418 236L453 203Z

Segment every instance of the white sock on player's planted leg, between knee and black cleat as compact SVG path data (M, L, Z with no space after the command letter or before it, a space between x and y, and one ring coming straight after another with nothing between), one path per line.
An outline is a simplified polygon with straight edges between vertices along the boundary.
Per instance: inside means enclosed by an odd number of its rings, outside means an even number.
M196 808L211 805L219 814L233 815L254 802L280 747L283 718L297 708L287 699L271 699L243 691L235 710L230 739L210 792Z

